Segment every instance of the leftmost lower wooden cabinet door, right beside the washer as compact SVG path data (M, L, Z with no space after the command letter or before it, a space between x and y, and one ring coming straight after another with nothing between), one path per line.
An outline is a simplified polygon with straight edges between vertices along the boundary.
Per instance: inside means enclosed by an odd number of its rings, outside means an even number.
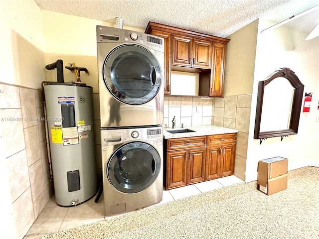
M166 189L186 185L187 150L167 153Z

